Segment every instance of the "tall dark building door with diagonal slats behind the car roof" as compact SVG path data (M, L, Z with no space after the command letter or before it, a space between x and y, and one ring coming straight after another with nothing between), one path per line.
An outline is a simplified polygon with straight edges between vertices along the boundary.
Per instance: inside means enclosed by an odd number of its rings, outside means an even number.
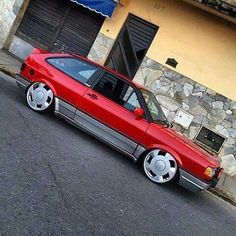
M158 26L150 22L129 14L107 58L105 66L132 80L158 28Z

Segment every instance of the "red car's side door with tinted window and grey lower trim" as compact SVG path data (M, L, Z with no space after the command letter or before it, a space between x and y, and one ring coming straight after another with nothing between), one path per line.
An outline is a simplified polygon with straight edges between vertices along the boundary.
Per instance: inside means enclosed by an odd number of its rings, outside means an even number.
M149 126L144 117L134 113L140 107L135 87L106 72L87 90L83 101L75 121L111 145L133 154Z

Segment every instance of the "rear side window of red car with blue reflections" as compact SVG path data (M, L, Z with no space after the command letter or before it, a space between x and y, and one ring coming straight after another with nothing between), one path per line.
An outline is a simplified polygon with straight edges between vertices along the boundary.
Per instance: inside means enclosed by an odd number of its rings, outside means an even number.
M97 67L92 66L78 58L48 58L47 62L82 84L87 83L92 75L98 70Z

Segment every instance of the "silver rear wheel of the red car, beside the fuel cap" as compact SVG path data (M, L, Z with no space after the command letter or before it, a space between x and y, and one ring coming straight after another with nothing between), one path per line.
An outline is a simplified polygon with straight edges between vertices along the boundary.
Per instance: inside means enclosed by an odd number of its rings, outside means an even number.
M26 94L27 103L35 111L47 110L53 102L53 92L44 83L33 83Z

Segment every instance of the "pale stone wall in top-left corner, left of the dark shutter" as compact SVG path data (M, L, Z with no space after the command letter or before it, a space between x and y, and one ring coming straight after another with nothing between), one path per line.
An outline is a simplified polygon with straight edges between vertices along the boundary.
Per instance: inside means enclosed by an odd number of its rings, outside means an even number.
M0 1L0 48L3 47L23 0Z

